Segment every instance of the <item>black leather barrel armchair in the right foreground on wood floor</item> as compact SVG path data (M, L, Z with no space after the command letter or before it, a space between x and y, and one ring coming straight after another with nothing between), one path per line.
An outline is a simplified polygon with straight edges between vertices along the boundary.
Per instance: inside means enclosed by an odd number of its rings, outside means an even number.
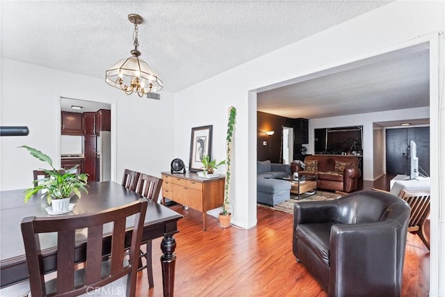
M400 296L409 218L377 191L296 203L293 254L329 296Z

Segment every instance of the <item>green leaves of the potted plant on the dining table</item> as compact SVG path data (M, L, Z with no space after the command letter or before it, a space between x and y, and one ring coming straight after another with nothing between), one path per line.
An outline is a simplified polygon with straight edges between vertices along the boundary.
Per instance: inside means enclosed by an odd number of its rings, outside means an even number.
M86 186L88 175L86 173L81 173L76 175L75 172L77 165L70 168L69 170L56 170L53 166L53 161L49 156L40 152L40 150L35 150L33 147L22 145L21 147L26 148L29 153L40 161L44 161L51 166L51 170L43 169L48 175L43 179L38 179L33 181L40 182L38 186L33 186L24 191L25 198L24 202L28 202L32 195L37 193L39 190L45 190L46 192L42 195L42 198L46 197L48 204L51 204L51 199L63 199L70 198L72 192L74 192L77 197L81 198L81 191L88 193Z

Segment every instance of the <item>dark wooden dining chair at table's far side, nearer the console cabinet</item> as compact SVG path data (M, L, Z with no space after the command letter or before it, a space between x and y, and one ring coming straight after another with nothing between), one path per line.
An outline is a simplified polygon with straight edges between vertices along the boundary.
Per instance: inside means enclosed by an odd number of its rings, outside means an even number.
M153 200L154 202L158 202L159 192L161 192L163 179L159 177L154 177L152 175L147 175L142 173L139 178L138 188L136 193L139 195L143 195L149 200ZM138 271L142 271L144 268L147 268L147 277L148 277L148 285L149 287L154 287L153 280L153 266L152 266L152 241L144 241L140 243L141 246L145 244L146 250L143 252L140 250L139 257L139 268ZM141 259L145 258L145 266L142 265Z

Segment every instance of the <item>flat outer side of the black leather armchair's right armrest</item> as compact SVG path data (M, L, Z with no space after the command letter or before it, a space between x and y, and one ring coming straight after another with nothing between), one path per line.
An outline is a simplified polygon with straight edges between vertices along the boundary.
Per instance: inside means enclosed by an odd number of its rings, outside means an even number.
M397 284L401 282L400 258L404 253L399 254L405 250L405 241L397 238L398 225L384 220L331 227L328 291L332 296L360 296L364 294L361 288L373 283L385 284L379 285L380 291L373 291L375 296L400 296ZM343 261L345 257L348 261Z

